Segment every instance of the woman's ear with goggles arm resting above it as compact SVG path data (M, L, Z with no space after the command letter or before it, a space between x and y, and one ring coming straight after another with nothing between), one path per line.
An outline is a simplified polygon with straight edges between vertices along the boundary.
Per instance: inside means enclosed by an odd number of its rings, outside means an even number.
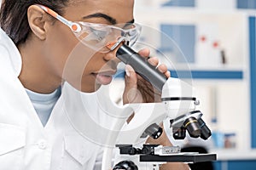
M46 37L46 17L42 8L37 5L31 5L27 8L27 20L32 32L40 40L44 40ZM48 20L49 21L49 20Z

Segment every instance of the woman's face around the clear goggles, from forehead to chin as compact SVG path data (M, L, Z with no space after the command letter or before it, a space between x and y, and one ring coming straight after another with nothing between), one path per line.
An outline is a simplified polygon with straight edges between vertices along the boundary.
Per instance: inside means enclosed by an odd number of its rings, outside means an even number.
M123 24L133 20L133 3L133 0L70 0L62 16L71 21ZM49 26L44 48L55 76L83 92L94 92L102 84L110 83L119 63L116 50L99 53L84 46L58 20Z

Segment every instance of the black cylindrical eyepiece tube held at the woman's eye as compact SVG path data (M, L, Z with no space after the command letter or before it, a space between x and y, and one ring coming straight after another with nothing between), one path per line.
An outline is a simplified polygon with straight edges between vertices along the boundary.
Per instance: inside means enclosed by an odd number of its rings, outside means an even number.
M137 52L125 44L118 49L116 55L126 65L131 65L137 74L150 82L154 88L160 92L162 91L167 78L156 67L150 65L147 59L137 54Z

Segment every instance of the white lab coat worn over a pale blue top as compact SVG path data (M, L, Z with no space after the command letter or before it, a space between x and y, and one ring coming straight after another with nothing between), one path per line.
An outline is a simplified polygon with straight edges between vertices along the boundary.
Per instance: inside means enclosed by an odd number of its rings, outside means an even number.
M73 126L86 126L83 120L69 118L88 106L85 111L92 111L92 120L108 122L100 116L101 108L96 106L96 98L92 98L95 93L82 94L67 84L43 127L18 79L21 65L14 42L0 30L0 170L100 169L101 143L84 138ZM70 102L78 95L88 104L82 105L82 109L79 103ZM94 127L90 130L98 134L96 137L101 134Z

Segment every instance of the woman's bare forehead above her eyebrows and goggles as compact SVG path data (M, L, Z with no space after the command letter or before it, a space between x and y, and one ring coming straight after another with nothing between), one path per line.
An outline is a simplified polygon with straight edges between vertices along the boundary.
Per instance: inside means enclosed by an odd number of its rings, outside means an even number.
M91 14L106 14L117 23L125 23L133 20L133 5L133 0L69 0L64 14L70 20L81 20ZM90 20L103 21L101 17Z

